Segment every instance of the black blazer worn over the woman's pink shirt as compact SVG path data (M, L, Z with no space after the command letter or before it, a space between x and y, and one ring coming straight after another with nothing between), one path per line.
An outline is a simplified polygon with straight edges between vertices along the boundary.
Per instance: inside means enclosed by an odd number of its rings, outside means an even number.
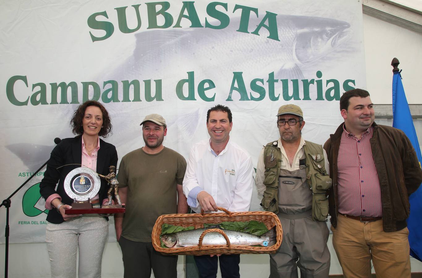
M47 162L47 169L44 173L44 178L40 183L41 196L47 200L47 198L54 193L57 193L62 197L62 202L66 205L70 205L73 199L68 196L65 192L63 183L66 175L73 169L81 167L82 162L82 136L76 136L75 138L63 139L54 149L51 151L51 156ZM79 165L67 165L67 164L79 164ZM106 143L100 139L100 149L97 154L97 173L107 175L110 173L108 167L111 165L117 166L117 151L114 145ZM58 182L58 185L57 185ZM56 188L57 185L57 188ZM103 199L107 198L107 191L109 185L106 180L101 178L101 186L98 195L100 197L100 204ZM47 215L47 221L60 224L62 223L63 217L56 211L51 209Z

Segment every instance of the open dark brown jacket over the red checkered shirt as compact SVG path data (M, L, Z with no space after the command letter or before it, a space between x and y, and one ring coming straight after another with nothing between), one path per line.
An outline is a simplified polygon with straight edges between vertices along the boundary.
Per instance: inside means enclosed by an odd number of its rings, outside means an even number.
M337 157L343 125L324 144L333 179L333 187L328 191L333 227L337 226ZM371 150L381 188L383 228L385 232L394 232L406 227L410 212L408 197L421 184L422 170L410 140L401 130L375 122L372 126Z

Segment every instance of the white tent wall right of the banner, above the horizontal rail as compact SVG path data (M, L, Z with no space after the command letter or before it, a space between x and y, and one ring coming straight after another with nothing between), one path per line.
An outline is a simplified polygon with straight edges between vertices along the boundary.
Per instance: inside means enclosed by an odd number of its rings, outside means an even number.
M422 103L420 65L422 62L422 27L414 32L403 27L363 16L365 40L365 67L367 90L376 104L391 104L391 60L397 57L403 70L403 86L409 104ZM379 32L388 30L388 32Z

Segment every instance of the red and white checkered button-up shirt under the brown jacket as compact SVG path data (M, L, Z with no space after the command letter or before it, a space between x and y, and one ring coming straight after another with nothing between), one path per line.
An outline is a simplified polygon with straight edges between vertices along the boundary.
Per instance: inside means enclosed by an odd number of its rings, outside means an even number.
M352 216L381 217L381 189L370 140L373 127L357 139L343 126L338 150L338 212Z

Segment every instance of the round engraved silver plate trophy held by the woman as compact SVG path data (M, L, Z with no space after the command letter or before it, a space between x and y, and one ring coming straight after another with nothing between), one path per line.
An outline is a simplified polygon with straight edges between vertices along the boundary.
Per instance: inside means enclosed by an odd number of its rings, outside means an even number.
M65 192L72 198L73 208L92 208L89 200L100 191L101 180L94 170L88 167L78 167L66 175Z

